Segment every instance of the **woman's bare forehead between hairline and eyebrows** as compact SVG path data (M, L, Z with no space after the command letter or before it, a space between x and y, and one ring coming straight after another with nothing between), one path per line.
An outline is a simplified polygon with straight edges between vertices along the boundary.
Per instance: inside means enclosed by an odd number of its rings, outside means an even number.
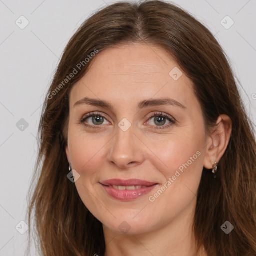
M186 104L191 97L192 81L163 48L130 43L100 51L86 74L73 86L70 101L84 96L117 100L129 104L157 96L170 96ZM173 79L172 70L178 71Z

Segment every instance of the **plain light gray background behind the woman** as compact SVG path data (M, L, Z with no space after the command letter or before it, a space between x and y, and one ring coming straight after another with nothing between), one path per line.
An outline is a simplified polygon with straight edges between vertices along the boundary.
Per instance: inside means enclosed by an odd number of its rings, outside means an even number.
M108 0L0 0L0 255L24 255L27 190L37 154L37 128L46 89L78 26ZM255 0L174 0L215 35L256 119ZM29 24L25 24L24 16ZM228 15L231 20L223 19ZM16 21L17 20L17 21ZM221 21L223 20L223 21ZM15 23L18 22L19 26ZM224 24L224 23L226 24ZM222 24L223 25L222 25ZM24 120L28 126L24 124ZM22 126L22 124L24 126ZM36 255L35 252L32 255Z

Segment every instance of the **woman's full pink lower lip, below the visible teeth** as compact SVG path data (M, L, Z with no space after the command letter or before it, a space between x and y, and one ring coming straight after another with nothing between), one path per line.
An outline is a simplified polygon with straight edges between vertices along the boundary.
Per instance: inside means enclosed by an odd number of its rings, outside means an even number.
M133 190L126 190L126 189L118 190L103 184L101 184L101 186L103 186L105 191L113 198L121 201L130 201L149 193L155 186L157 186L157 184L154 184L152 186L147 186L147 187L141 187Z

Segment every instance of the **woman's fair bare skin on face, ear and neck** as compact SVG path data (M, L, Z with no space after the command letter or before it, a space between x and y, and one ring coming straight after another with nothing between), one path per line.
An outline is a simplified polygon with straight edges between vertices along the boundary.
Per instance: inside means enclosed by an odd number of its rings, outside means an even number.
M103 224L105 256L110 255L195 255L192 221L203 166L212 168L227 147L231 120L221 115L217 127L206 134L200 104L192 82L175 60L157 46L129 43L108 48L91 61L88 72L72 87L69 95L68 161L80 177L77 191L90 212ZM174 80L169 72L183 72ZM113 109L74 103L83 97L109 101ZM170 97L185 106L148 106L141 100ZM97 111L105 116L100 124L80 119ZM162 112L176 122L154 121ZM97 115L97 114L96 114ZM126 131L118 123L126 118ZM158 124L158 125L157 125ZM165 126L165 129L153 129ZM189 167L153 202L157 190L176 170L200 152ZM110 197L100 181L137 178L158 183L151 192L135 200ZM152 197L151 197L152 198ZM118 228L127 222L128 232ZM123 224L122 224L123 225ZM97 251L95 251L97 253ZM198 254L199 255L199 254ZM200 255L206 255L203 250Z

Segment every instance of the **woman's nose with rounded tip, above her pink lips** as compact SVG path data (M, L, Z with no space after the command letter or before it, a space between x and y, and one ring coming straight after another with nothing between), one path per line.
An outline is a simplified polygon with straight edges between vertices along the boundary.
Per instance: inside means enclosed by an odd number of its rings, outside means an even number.
M131 126L123 131L117 126L115 136L111 139L108 161L119 169L127 169L139 165L144 160L143 143L135 129Z

